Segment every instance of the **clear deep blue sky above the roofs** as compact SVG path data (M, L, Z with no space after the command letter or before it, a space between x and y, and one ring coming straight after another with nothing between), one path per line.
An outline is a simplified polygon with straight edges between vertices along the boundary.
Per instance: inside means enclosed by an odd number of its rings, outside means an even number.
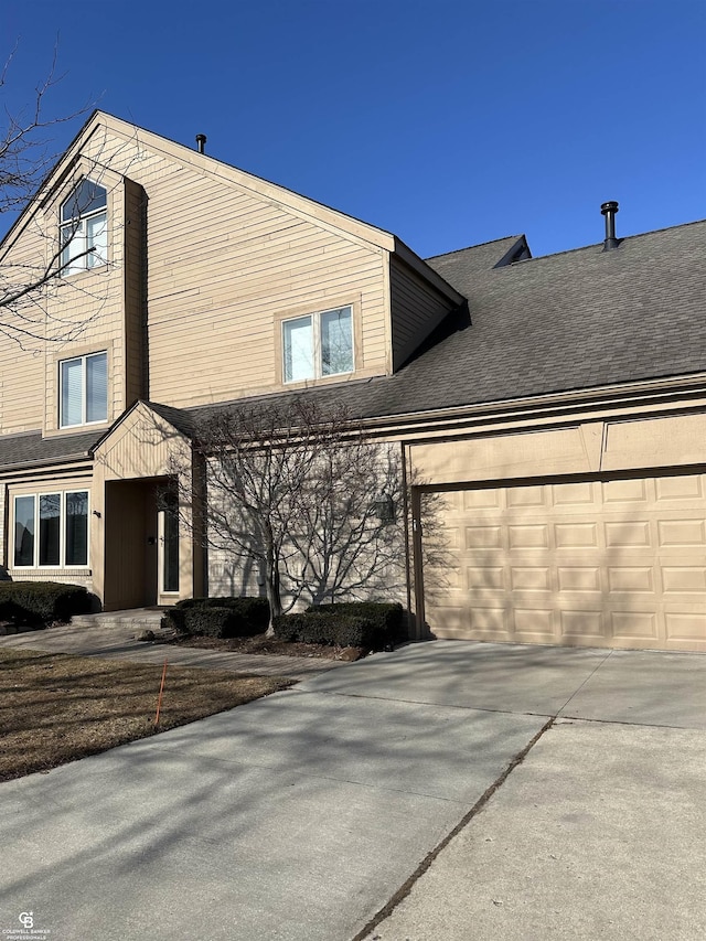
M706 216L703 0L2 0L15 108L86 101L394 232L535 255ZM81 127L54 135L61 150Z

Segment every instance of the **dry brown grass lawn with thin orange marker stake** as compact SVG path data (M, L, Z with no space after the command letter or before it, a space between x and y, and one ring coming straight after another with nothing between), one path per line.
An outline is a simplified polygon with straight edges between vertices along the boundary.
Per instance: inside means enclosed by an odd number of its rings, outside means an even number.
M231 709L292 685L282 677L0 650L0 781Z

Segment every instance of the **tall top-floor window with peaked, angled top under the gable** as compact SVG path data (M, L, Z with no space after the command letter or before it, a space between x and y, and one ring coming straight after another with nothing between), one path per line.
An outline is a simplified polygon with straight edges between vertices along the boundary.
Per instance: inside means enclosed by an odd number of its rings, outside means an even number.
M108 259L107 193L92 180L82 180L62 205L62 274L74 275L105 265Z

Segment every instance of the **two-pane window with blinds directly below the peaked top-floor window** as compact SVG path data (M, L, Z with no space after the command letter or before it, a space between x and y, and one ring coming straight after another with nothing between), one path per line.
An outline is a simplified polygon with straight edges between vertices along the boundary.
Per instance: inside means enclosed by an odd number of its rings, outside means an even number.
M74 428L108 418L108 354L88 353L58 364L58 426Z

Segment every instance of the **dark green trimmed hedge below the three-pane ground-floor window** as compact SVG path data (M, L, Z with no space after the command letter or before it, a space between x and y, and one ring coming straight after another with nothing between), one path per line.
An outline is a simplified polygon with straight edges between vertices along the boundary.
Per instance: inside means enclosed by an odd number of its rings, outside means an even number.
M79 585L57 581L0 582L0 618L17 623L68 621L90 611L92 597Z

